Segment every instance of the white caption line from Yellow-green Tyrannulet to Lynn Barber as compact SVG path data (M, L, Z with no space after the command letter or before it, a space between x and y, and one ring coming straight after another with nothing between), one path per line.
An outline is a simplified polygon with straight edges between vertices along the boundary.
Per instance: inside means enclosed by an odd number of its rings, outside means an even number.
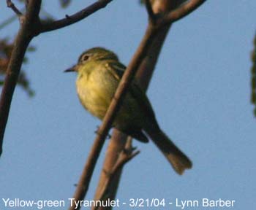
M219 209L235 206L235 200L225 200L219 198L217 200L211 200L208 198L202 198L200 200L181 200L181 199L166 199L166 198L129 198L127 201L120 201L119 199L105 201L75 201L74 198L68 198L67 201L64 200L25 200L20 198L1 198L1 205L3 207L13 207L13 208L24 208L24 209L49 209L49 208L60 208L67 206L75 206L75 209L80 207L93 207L93 206L111 206L111 207L121 207L128 206L129 208L148 208L148 207L158 207L159 209L170 209L168 206L175 206L176 209L200 209L218 207Z

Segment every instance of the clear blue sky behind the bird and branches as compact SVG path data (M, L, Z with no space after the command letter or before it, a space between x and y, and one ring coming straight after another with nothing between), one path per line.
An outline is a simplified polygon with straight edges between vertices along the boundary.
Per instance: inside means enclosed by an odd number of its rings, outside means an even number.
M72 1L68 9L59 9L59 1L44 1L44 6L54 17L63 18L92 2ZM0 9L0 20L13 15L5 1L0 1ZM255 20L256 1L215 0L173 24L148 98L159 125L194 166L178 176L153 144L134 141L141 153L124 168L120 201L222 198L236 200L231 209L256 206L256 119L249 102ZM127 65L146 24L145 8L138 1L119 0L31 42L37 51L27 54L29 63L23 69L36 96L15 90L0 159L0 198L72 198L100 122L80 105L76 75L63 71L76 63L81 52L95 46L113 50ZM1 30L0 37L12 37L17 31L18 21ZM107 144L88 200L94 196ZM170 208L179 209L165 207Z

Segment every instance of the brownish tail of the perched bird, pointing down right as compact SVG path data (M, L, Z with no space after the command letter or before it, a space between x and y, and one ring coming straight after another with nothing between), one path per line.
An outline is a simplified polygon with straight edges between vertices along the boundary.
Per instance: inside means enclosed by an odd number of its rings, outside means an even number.
M192 162L181 152L178 147L165 135L161 129L148 129L146 131L151 140L161 150L168 162L173 166L178 174L183 174L185 169L192 168ZM157 131L155 131L157 130Z

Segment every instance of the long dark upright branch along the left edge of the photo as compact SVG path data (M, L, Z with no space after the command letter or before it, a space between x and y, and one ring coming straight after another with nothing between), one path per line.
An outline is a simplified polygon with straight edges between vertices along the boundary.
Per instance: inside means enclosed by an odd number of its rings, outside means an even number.
M36 23L35 21L38 20L40 6L40 0L29 1L26 14L23 17L23 21L20 22L20 30L16 36L10 62L7 67L4 86L1 90L0 97L0 155L2 152L4 131L10 112L12 96L15 90L15 86L18 82L18 76L20 74L20 68L26 49L29 46L29 42L33 38L33 27L34 23Z

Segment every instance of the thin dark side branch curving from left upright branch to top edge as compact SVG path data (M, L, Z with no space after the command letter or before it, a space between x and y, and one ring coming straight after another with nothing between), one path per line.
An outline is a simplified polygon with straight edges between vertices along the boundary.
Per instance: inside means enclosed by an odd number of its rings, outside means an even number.
M82 9L80 12L75 13L74 15L66 15L66 18L56 20L51 23L42 23L42 26L39 27L39 33L53 31L59 28L64 28L73 23L77 23L78 21L83 20L94 12L97 12L99 9L106 7L110 1L113 0L99 0L94 4L91 4L89 7Z

